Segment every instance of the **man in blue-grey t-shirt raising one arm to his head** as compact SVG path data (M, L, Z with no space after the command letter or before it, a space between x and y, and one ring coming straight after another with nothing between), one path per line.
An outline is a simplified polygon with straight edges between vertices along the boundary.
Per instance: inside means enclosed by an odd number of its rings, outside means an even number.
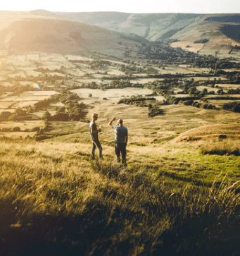
M117 155L117 161L120 162L120 154L122 154L122 164L127 166L126 154L127 154L127 127L122 126L122 119L118 119L118 126L113 126L112 123L116 118L113 117L108 126L114 129L114 144L115 144L115 154Z

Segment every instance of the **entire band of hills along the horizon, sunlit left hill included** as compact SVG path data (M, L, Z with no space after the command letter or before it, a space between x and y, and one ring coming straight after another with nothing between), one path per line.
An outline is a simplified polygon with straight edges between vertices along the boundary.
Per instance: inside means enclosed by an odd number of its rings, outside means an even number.
M100 45L109 48L108 43L118 44L123 36L120 33L151 42L171 39L194 43L204 39L205 49L231 49L240 44L240 14L237 13L65 13L35 10L0 11L0 15L7 16L6 20L10 24L5 22L0 25L0 44L13 48L17 46L44 50L49 48L46 43L50 42L51 50L56 51L77 51L79 47L97 50ZM19 30L11 26L9 17ZM28 47L24 46L26 43L23 35Z

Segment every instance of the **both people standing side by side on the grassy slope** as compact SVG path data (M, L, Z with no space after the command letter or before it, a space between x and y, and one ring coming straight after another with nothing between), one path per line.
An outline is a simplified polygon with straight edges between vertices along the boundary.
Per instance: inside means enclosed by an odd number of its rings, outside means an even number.
M102 147L101 147L101 143L99 142L99 132L101 132L101 129L97 129L96 128L96 123L95 121L98 119L98 114L93 113L91 114L91 122L89 124L89 128L90 128L90 135L91 135L91 141L92 141L92 150L91 150L91 159L95 158L95 150L96 147L98 147L99 149L99 157L102 159L103 155L102 155ZM115 154L117 155L117 161L120 162L120 154L122 155L122 164L123 165L127 165L126 164L126 154L127 154L127 139L128 139L128 132L127 132L127 127L123 126L122 123L122 119L118 119L117 123L118 126L113 126L112 123L113 121L115 121L116 118L112 118L110 120L110 122L108 123L108 126L110 128L113 128L114 130L114 134L115 134L115 138L114 138L114 144L115 144Z

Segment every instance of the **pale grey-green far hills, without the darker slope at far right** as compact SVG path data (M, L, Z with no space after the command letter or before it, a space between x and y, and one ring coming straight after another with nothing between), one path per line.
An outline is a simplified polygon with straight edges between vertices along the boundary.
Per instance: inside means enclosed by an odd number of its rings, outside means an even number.
M119 32L134 33L150 41L173 37L179 39L182 30L190 32L193 27L201 27L203 23L215 23L216 29L225 23L240 23L239 14L96 12L56 15Z

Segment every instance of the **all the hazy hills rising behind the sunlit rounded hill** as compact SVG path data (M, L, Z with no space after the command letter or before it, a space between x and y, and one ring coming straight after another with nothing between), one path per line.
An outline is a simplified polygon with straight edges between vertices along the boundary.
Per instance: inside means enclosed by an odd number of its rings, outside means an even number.
M43 10L33 11L33 13L44 15ZM49 16L50 14L46 11L45 15ZM226 39L229 37L240 42L239 13L54 12L54 15L118 32L133 33L149 41L179 39L180 41L194 42L208 35L208 39Z

